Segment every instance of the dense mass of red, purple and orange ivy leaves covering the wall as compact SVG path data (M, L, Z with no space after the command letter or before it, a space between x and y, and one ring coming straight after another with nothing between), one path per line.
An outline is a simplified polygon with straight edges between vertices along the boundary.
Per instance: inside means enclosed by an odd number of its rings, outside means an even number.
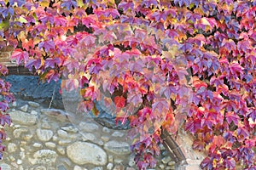
M149 120L132 145L140 169L155 166L158 127L174 133L182 119L207 152L201 168L255 169L255 11L255 0L1 0L0 48L48 82L68 78L84 110L97 115L94 101L109 94L117 122Z

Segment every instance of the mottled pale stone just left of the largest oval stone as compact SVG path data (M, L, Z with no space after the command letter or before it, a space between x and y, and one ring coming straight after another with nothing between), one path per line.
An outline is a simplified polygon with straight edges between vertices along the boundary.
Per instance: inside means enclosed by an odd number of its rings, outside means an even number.
M38 150L29 161L35 164L52 164L56 161L57 154L54 150Z

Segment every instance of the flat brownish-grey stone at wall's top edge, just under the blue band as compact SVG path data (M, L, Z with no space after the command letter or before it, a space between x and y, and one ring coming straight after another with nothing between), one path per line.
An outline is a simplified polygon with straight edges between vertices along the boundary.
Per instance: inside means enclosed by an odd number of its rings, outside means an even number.
M49 117L54 117L56 120L60 122L67 122L68 117L66 111L58 110L58 109L41 109L41 113L47 115Z

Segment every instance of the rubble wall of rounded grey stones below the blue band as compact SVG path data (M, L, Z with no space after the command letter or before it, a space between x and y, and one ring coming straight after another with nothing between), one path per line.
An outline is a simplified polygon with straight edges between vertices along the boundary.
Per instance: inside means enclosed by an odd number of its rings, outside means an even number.
M13 122L6 127L8 138L3 141L3 170L137 169L129 144L119 142L124 138L122 131L96 122L74 127L64 111L21 99L9 114ZM155 169L174 169L175 162L163 146L160 148Z

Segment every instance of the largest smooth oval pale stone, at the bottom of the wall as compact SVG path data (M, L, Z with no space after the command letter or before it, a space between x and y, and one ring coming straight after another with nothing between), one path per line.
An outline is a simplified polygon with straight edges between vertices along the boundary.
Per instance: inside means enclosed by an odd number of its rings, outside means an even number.
M107 154L96 144L75 142L67 146L67 156L76 164L91 163L103 166L107 163Z

